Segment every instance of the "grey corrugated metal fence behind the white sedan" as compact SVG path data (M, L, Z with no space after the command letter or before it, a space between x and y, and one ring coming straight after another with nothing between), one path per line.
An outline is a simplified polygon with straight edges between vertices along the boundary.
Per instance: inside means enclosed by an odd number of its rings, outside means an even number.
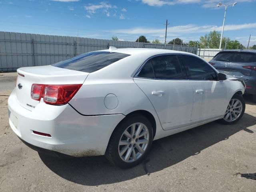
M69 36L0 32L0 71L54 64L78 54L116 48L164 48L162 44L113 41ZM166 45L166 49L197 53L196 47Z

